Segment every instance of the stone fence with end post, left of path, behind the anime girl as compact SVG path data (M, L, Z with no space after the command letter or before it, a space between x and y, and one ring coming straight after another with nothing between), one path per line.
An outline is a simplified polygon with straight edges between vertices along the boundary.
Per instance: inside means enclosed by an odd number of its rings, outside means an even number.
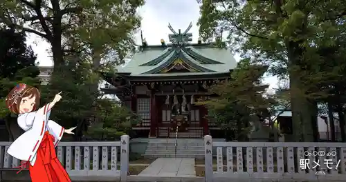
M10 144L10 142L0 142L1 168L16 168L20 165L18 159L6 152ZM95 179L102 177L107 180L113 179L113 181L120 179L127 181L129 136L122 135L120 141L60 142L57 146L57 158L60 159L71 179L93 181L93 177Z

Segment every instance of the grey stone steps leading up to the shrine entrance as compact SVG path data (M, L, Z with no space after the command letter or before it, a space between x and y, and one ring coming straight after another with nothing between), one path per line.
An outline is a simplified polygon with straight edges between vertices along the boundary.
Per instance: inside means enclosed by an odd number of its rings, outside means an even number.
M176 148L176 150L175 150ZM143 155L147 158L204 158L203 139L149 139Z

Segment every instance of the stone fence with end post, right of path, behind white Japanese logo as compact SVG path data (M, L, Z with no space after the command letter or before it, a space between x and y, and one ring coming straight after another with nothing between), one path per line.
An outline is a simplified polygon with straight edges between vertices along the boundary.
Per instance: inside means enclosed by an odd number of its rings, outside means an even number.
M207 135L204 144L206 182L215 179L346 181L346 143L212 142L212 137ZM216 169L213 147L217 148Z

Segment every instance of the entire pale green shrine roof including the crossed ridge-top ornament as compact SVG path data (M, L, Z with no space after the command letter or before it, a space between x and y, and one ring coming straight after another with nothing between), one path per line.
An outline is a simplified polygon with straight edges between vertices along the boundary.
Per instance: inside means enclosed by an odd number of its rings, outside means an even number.
M201 75L228 73L233 70L237 63L230 50L215 48L208 43L192 44L192 34L188 31L192 23L185 31L175 31L168 26L173 34L168 37L171 44L147 45L143 42L140 51L134 54L127 65L118 67L118 73L127 73L129 77L156 77L174 74Z

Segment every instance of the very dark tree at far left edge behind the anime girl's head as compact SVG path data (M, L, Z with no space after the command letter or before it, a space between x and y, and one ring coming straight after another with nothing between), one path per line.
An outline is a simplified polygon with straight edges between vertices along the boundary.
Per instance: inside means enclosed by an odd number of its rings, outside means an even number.
M0 118L5 119L9 139L13 141L12 123L17 122L11 117L5 98L17 83L38 86L39 70L35 65L33 50L26 46L26 34L3 28L0 30L0 40Z

